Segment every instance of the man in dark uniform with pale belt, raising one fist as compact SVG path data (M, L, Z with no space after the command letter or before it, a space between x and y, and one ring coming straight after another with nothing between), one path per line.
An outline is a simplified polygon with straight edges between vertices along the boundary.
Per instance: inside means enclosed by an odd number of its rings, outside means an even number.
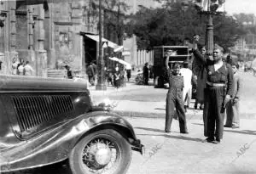
M224 64L220 48L213 49L213 59L207 59L197 50L199 36L194 36L195 59L200 59L207 67L205 106L203 112L204 135L207 142L220 143L224 132L224 110L232 96L233 71Z

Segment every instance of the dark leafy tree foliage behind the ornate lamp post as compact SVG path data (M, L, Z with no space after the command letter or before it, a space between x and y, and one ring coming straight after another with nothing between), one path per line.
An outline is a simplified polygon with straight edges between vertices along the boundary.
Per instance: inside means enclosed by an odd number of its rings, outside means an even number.
M201 44L205 44L207 17L198 14L192 3L187 9L183 9L182 3L168 1L161 8L142 7L131 19L126 31L137 36L138 48L182 45L184 39L192 38L194 34L201 35ZM229 16L215 16L213 23L214 42L221 47L234 46L239 36L244 34L241 25Z

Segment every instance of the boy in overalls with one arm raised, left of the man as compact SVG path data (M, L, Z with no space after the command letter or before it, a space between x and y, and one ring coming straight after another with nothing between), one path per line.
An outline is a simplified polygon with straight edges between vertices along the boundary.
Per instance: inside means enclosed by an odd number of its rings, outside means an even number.
M169 68L169 58L172 51L168 51L166 56L167 79L169 82L169 90L166 95L166 127L165 132L171 132L172 118L175 116L175 109L179 121L179 129L181 133L189 133L187 129L186 115L183 102L183 76L180 74L180 65L174 63L172 71Z

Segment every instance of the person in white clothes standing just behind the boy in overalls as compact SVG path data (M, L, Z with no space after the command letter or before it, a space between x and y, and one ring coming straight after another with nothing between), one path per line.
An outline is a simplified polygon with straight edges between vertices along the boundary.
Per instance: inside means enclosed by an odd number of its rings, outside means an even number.
M184 109L187 112L189 108L190 100L192 97L192 70L189 70L189 62L183 63L183 68L180 69L180 74L183 76L184 87L183 87L183 100Z

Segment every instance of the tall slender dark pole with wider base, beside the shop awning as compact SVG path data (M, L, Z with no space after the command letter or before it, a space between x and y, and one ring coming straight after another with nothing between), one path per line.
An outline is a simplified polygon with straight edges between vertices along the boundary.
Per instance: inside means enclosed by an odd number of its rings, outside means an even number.
M107 90L105 83L104 59L102 47L102 0L99 0L99 55L97 57L97 84L96 90Z

